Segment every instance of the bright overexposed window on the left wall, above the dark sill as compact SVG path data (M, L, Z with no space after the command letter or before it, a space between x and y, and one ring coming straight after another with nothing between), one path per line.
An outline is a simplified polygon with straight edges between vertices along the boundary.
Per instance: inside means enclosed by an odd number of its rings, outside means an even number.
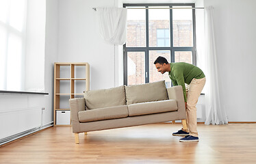
M26 0L0 1L0 90L21 90Z

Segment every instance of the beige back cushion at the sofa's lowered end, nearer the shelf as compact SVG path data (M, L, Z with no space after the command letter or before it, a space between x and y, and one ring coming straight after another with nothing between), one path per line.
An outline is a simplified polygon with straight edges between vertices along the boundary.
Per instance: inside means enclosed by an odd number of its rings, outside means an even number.
M86 99L86 109L126 105L125 86L86 91L84 98Z

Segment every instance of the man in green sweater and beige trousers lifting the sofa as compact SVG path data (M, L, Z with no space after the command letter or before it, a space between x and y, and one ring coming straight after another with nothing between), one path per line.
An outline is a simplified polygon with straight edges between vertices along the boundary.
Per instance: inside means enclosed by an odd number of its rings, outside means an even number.
M168 63L164 57L155 59L155 68L158 72L164 74L168 72L173 85L181 85L185 100L185 109L187 113L188 130L181 129L174 136L185 136L179 141L199 141L197 132L196 103L199 99L203 86L205 85L205 74L203 71L188 63ZM188 84L188 96L186 95L185 83Z

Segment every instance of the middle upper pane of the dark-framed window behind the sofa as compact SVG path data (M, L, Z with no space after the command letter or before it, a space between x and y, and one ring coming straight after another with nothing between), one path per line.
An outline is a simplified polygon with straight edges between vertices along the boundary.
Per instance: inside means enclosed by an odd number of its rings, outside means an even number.
M169 6L150 8L169 8ZM166 31L170 31L170 10L149 9L149 46L159 46L157 44L159 38L170 40ZM170 46L170 44L164 44L164 46Z

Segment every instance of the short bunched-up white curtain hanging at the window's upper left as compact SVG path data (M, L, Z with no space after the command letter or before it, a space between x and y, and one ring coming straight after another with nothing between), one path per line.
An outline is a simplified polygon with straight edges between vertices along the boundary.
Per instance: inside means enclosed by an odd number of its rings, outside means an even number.
M110 44L126 42L127 8L97 8L101 36Z

